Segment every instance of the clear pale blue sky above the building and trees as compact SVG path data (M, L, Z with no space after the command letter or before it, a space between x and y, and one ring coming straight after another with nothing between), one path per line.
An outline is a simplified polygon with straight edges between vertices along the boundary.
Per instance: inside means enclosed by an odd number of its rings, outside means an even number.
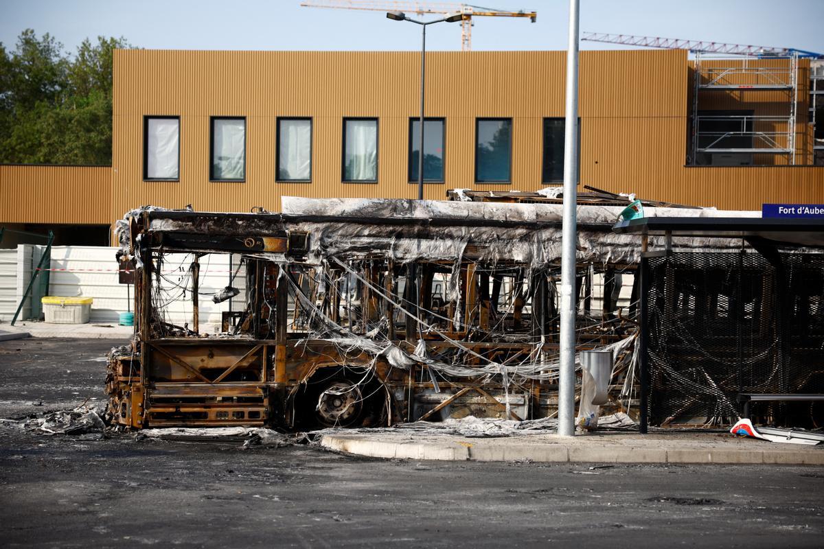
M566 48L567 0L480 3L535 10L538 21L478 17L473 49ZM419 49L419 27L387 20L382 12L299 4L300 0L0 0L0 42L11 49L21 30L32 28L38 35L54 35L70 52L87 36L97 35L124 36L148 49ZM824 0L581 0L581 30L824 53ZM458 23L429 27L428 49L460 49L460 37ZM611 48L596 42L583 42L581 47Z

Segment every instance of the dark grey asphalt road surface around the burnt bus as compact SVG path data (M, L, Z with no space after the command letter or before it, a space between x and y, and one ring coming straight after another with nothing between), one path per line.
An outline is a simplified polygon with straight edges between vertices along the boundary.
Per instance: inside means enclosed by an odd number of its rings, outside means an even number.
M0 342L0 416L104 398L95 359L111 345ZM822 534L824 468L383 461L0 427L0 547L822 547Z

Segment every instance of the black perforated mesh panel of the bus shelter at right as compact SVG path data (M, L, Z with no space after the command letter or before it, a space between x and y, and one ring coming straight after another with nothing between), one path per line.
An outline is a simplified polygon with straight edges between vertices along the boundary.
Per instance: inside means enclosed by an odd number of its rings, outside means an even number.
M824 393L824 254L647 261L650 425L729 425L738 393ZM824 404L753 402L751 416L815 427Z

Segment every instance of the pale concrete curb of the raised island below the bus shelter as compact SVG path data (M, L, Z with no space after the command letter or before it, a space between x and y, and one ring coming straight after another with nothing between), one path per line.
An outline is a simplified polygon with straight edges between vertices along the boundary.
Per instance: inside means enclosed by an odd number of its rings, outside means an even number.
M583 437L582 437L583 438ZM509 438L509 444L485 444L442 436L437 441L386 440L380 435L323 435L321 446L372 458L434 459L446 461L531 461L536 463L748 463L824 465L824 450L716 448L705 444L564 444L528 443ZM753 441L759 444L761 441ZM770 444L770 443L762 443Z

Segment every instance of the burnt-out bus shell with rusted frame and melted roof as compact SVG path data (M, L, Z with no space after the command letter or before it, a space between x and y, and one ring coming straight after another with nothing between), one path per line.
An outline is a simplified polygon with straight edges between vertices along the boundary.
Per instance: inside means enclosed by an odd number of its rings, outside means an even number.
M305 428L556 412L559 206L283 202L292 213L145 207L119 223L135 331L110 353L115 422ZM617 409L632 396L639 257L637 240L611 234L620 209L578 213L578 345L613 351ZM182 282L168 277L172 255ZM232 258L227 287L203 295L200 271L217 255ZM201 300L227 296L241 305L205 328ZM185 323L170 321L174 300L190 305Z

